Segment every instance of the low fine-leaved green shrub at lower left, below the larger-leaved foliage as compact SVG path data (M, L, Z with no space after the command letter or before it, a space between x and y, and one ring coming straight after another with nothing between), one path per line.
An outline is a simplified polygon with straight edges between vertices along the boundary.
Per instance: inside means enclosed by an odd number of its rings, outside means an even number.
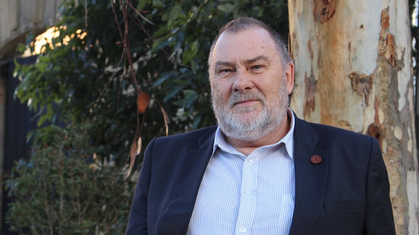
M6 176L14 199L6 214L10 229L30 228L34 235L123 234L133 182L112 164L92 159L86 128L55 129L56 141L34 148L32 157Z

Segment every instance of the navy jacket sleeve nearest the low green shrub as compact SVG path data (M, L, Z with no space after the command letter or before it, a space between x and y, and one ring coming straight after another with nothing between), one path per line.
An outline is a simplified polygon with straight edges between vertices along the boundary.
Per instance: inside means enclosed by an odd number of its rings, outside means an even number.
M155 141L156 139L148 144L144 153L144 159L135 188L125 235L147 235L148 233L147 201L151 176L151 152Z

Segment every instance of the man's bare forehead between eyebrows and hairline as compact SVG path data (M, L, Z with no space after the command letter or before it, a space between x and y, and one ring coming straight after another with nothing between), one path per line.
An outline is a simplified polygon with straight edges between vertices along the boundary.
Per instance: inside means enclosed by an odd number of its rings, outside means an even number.
M215 43L211 61L245 60L257 56L278 57L274 40L262 28L223 32Z

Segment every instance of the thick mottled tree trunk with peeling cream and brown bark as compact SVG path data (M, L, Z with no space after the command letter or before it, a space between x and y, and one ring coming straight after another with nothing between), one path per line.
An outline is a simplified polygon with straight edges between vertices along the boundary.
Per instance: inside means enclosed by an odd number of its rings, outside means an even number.
M289 0L297 116L374 136L396 232L418 235L411 33L406 0Z

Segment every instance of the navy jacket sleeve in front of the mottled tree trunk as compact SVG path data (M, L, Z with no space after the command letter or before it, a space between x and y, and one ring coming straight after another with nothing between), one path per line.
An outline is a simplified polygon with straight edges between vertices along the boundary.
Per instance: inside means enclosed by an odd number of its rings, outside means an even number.
M387 170L378 141L371 138L364 235L395 235Z

